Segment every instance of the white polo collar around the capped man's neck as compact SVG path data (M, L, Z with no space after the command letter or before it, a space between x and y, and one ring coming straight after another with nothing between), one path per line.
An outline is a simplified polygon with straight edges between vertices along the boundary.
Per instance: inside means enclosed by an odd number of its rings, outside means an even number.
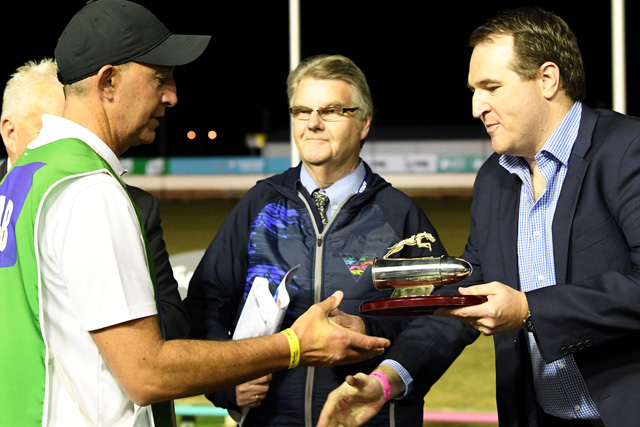
M96 134L91 132L85 127L72 122L71 120L44 114L42 116L42 129L36 139L31 141L28 148L38 148L53 141L58 141L65 138L77 138L87 144L93 149L100 157L102 157L113 171L122 176L125 172L120 160L115 155L111 148L107 146Z

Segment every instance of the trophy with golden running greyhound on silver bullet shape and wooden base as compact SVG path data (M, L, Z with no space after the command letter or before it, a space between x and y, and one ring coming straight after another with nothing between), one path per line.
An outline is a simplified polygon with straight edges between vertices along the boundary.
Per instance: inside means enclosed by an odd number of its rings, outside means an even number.
M423 258L389 258L406 245L428 248L436 239L427 232L401 240L385 256L373 261L371 277L379 291L393 289L391 298L367 301L361 314L379 316L433 314L438 308L480 304L485 297L475 295L431 295L435 287L460 282L471 274L472 267L462 258L449 256Z

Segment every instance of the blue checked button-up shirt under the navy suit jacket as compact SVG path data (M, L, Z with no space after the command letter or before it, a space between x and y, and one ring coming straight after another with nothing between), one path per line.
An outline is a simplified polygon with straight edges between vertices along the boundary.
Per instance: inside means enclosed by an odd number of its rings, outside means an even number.
M522 180L518 219L518 272L523 292L556 284L551 225L560 189L567 174L571 150L578 135L581 114L582 104L576 102L542 150L536 154L535 161L547 183L538 200L534 200L527 162L521 157L508 155L500 158L500 165ZM564 419L599 419L598 409L589 396L573 356L547 364L540 355L531 332L528 333L528 342L536 397L544 411Z

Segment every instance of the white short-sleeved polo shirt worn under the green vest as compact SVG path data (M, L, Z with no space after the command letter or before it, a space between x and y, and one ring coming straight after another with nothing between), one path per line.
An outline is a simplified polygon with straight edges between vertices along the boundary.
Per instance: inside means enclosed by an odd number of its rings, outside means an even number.
M40 135L29 148L63 138L84 141L118 175L123 173L103 141L63 118L44 115ZM97 426L133 425L134 420L136 426L153 425L149 408L133 404L89 335L157 313L144 241L128 195L108 174L75 178L51 192L40 218L40 317L52 357L43 425L91 425L87 418Z

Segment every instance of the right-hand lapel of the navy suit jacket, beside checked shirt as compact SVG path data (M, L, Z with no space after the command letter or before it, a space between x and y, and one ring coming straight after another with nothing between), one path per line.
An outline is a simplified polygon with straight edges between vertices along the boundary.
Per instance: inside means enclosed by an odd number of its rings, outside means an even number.
M553 256L557 284L567 282L571 226L578 205L580 189L589 166L589 161L585 159L585 156L591 147L591 137L598 117L599 114L596 111L582 105L580 129L571 151L567 176L562 184L553 217Z

